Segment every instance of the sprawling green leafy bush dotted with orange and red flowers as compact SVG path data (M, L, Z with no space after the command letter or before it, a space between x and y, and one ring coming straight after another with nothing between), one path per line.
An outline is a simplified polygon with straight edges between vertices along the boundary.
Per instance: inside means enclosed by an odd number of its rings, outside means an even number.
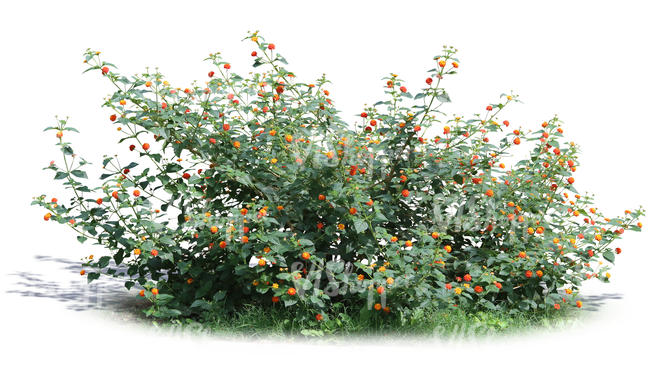
M211 54L206 86L184 89L85 53L87 71L116 88L104 106L133 158L105 157L99 187L82 182L89 163L64 140L76 130L67 120L47 128L65 166L45 169L74 196L33 203L79 241L103 245L109 255L87 258L82 274L138 285L147 314L255 304L315 322L341 311L579 307L584 280L608 281L620 253L612 241L642 226L643 209L606 218L578 194L578 147L563 142L557 117L513 129L497 120L518 101L505 94L471 119L440 111L450 101L441 82L459 68L454 48L434 58L415 95L384 78L386 99L353 126L325 78L298 82L274 44L246 39L264 72L241 76ZM506 166L524 143L530 154Z

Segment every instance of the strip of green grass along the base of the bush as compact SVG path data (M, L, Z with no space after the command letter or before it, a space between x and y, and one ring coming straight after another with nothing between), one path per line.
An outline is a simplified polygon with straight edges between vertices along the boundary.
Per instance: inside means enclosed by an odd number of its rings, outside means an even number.
M467 313L461 310L418 310L408 319L393 313L361 314L341 312L328 321L297 322L286 310L246 306L234 314L213 314L201 321L184 319L157 322L174 330L243 338L268 337L363 337L389 338L473 338L555 330L576 324L582 318L577 309L508 314L499 311Z

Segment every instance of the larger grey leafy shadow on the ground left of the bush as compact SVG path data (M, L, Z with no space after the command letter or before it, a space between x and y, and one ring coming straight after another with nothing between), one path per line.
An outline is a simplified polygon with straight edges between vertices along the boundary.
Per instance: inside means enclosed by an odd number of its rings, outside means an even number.
M119 313L125 319L139 319L140 311L148 304L136 297L137 286L128 291L123 280L102 276L88 284L86 278L79 275L79 262L44 255L37 255L35 259L49 264L48 269L57 270L57 275L26 271L10 273L7 277L12 280L13 288L7 293L58 301L74 311Z

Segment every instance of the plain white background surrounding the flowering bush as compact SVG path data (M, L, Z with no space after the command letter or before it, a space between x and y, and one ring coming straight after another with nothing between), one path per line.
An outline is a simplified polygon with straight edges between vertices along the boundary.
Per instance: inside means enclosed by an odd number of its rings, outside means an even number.
M582 147L576 187L595 193L600 209L617 215L647 208L650 27L643 1L21 1L2 8L0 327L6 342L0 362L603 367L623 358L644 360L642 334L650 328L645 232L628 232L618 244L623 253L613 283L585 286L624 298L608 300L579 327L488 342L270 346L161 334L107 312L71 309L76 297L65 293L76 296L83 280L74 264L56 258L77 261L101 251L78 244L72 232L43 222L44 211L29 206L43 193L67 197L52 173L40 170L61 160L54 133L42 132L56 114L69 115L80 129L72 140L87 159L99 162L103 153L117 152L128 157L125 147L114 145L110 112L100 108L110 85L98 73L81 74L86 48L101 50L122 73L157 66L172 85L185 87L206 79L212 68L202 60L211 52L221 51L239 73L251 70L252 45L240 40L260 30L299 79L327 73L336 106L350 120L382 96L381 77L397 73L414 91L441 46L453 45L461 62L460 73L444 81L453 100L448 112L483 112L513 90L525 104L503 118L537 129L558 114L569 139Z

